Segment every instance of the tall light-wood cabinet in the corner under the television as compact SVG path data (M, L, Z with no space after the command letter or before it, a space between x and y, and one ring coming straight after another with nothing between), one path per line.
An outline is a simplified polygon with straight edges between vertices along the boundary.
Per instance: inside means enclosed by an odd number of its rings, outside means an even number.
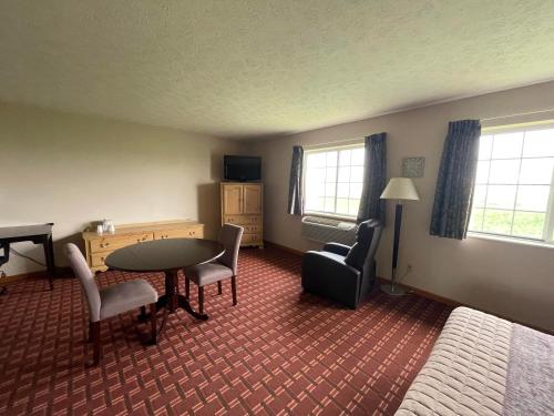
M264 246L261 183L222 182L222 225L244 227L242 246Z

